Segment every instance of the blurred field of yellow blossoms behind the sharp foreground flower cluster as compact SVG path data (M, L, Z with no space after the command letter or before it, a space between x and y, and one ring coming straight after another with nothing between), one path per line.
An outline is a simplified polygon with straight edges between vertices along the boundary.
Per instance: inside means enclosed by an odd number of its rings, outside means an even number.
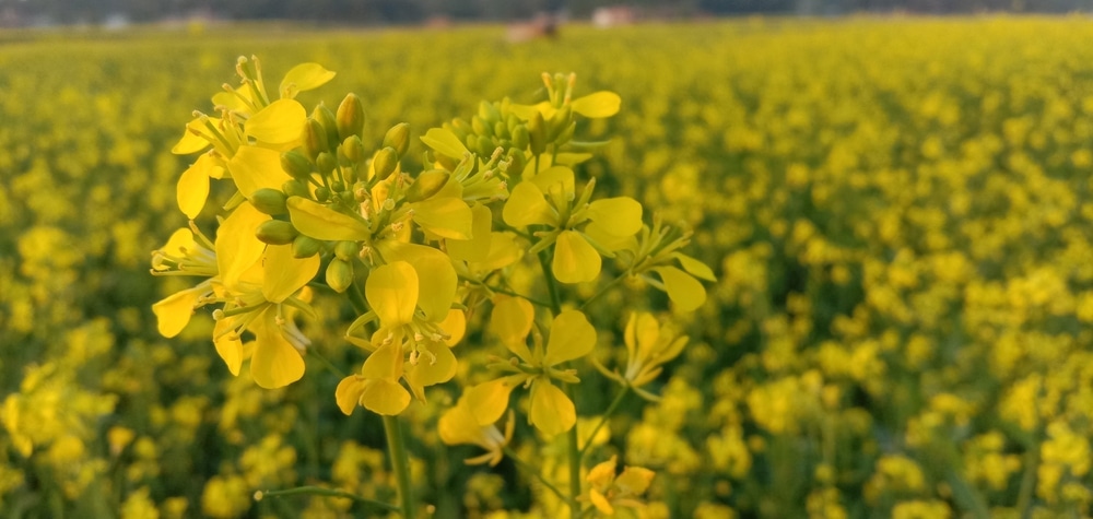
M261 389L225 368L209 312L156 331L151 305L188 286L149 273L186 225L172 146L257 55L271 78L337 71L299 98L355 92L366 140L409 122L407 165L425 129L481 99L530 103L543 71L622 97L590 121L612 140L578 173L694 229L687 253L718 281L693 314L632 286L589 311L615 333L601 343L623 343L620 308L690 335L650 385L661 399L623 399L590 440L657 473L619 514L1088 517L1090 40L1079 16L567 26L522 44L491 27L0 33L0 515L374 511L254 498L304 485L395 500L383 424L338 411L340 377L309 366ZM332 322L307 332L344 342ZM614 390L581 378L589 430ZM516 448L537 449L538 479L507 457L466 465L480 451L437 433L457 397L442 386L406 416L422 508L552 517L561 447Z

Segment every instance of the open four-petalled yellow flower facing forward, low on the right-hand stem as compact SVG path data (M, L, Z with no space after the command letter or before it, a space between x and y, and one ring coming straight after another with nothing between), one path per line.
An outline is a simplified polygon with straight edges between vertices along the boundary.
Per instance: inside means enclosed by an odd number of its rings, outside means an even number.
M564 433L577 422L573 401L551 379L575 384L572 369L557 365L583 357L596 345L596 329L578 310L563 310L551 323L546 346L536 341L534 350L526 341L534 322L534 310L527 299L498 296L490 318L491 330L518 357L509 364L509 375L468 388L463 394L479 425L493 424L508 408L508 397L520 384L531 386L528 420L543 434Z

